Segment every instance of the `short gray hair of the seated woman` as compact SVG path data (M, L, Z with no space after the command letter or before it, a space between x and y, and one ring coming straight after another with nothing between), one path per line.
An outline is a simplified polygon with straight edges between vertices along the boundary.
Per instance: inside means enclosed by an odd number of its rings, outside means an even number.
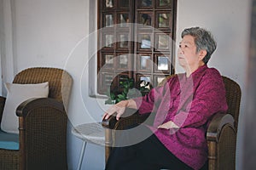
M200 52L202 49L207 51L207 55L203 59L203 62L207 64L217 46L217 43L212 37L212 33L200 27L191 27L182 32L182 38L186 35L195 38L196 53Z

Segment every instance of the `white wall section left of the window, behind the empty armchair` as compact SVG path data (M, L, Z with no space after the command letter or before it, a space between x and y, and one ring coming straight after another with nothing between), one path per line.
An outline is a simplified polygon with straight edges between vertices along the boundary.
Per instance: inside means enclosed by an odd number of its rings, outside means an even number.
M103 113L97 101L88 97L88 88L85 87L88 86L85 81L88 82L89 60L86 37L89 35L91 20L96 25L96 18L90 18L93 15L89 14L90 10L96 12L96 5L95 8L90 9L90 2L96 3L96 1L3 0L3 2L8 8L5 8L6 20L1 30L4 31L1 40L5 40L4 48L12 52L13 57L10 58L10 53L4 55L5 62L1 65L1 70L14 71L16 74L27 67L52 66L66 68L73 77L73 94L68 111L70 118L68 164L70 169L75 169L82 143L81 140L73 137L70 128L84 122L99 122ZM9 8L8 5L11 7ZM8 44L11 47L6 47ZM3 77L5 82L13 79L7 73ZM85 84L82 88L81 83ZM90 154L86 154L87 152ZM86 153L83 167L102 169L104 147L88 144ZM88 162L89 165L85 165Z

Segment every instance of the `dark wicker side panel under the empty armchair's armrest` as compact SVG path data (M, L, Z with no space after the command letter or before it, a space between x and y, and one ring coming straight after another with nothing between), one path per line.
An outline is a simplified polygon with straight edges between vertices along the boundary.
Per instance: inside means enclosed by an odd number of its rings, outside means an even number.
M33 136L26 138L27 168L67 169L67 116L48 106L32 112L37 115L26 118L26 136Z

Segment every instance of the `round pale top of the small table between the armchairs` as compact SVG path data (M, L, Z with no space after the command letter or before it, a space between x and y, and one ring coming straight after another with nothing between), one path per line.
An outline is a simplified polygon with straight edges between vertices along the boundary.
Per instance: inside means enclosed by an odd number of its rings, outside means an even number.
M101 122L84 123L73 127L72 133L86 142L105 145L105 131Z

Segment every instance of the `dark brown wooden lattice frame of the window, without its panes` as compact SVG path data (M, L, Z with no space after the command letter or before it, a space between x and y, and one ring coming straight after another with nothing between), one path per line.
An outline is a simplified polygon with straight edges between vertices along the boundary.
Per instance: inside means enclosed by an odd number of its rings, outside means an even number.
M177 0L170 0L172 3L170 8L166 7L160 7L159 2L160 0L152 0L152 7L142 7L139 5L138 2L142 2L143 0L129 0L129 8L119 8L120 0L112 0L113 2L113 8L104 8L106 6L106 0L98 0L98 8L97 8L97 14L98 14L98 21L97 21L97 28L98 28L98 35L97 35L97 44L98 47L104 47L103 43L104 36L106 36L107 33L109 35L113 34L113 48L98 48L97 51L97 88L96 93L97 94L106 94L108 91L108 88L110 90L119 88L119 80L122 79L120 77L130 77L135 80L135 84L138 85L140 82L140 78L143 77L150 77L150 82L152 82L153 86L157 85L157 77L167 77L170 74L174 73L174 65L175 65L175 45L172 43L176 40L176 20L177 20ZM171 10L170 10L171 9ZM134 12L133 12L134 11ZM105 14L113 14L113 26L111 27L104 27L106 26L105 23ZM140 14L151 14L151 26L153 29L148 29L148 26L137 26L137 27L131 27L129 25L128 27L122 27L119 24L119 20L121 18L120 14L127 14L129 15L129 19L131 20L131 23L139 23L139 16ZM169 26L168 27L159 27L160 21L155 16L159 16L159 14L169 14ZM126 26L126 25L125 25ZM135 33L136 32L136 33ZM156 43L160 37L156 37L157 35L161 34L168 34L169 37L171 37L172 42L167 42L168 49L160 48L141 48L142 47L142 38L139 37L143 34L149 34L151 38L151 44ZM128 48L119 48L119 36L120 35L128 35ZM144 39L143 39L144 40ZM145 41L146 42L146 39ZM166 45L166 44L164 44ZM157 47L155 44L151 45L154 47ZM147 47L147 46L145 46ZM163 46L165 47L165 46ZM113 54L113 68L104 68L102 66L103 62L103 55L104 54ZM128 64L127 68L118 68L118 62L119 62L119 55L121 54L130 54L128 57ZM138 64L140 64L140 57L143 55L150 56L150 59L152 60L152 65L150 65L151 70L148 71L143 69L138 69ZM160 71L157 69L157 56L166 55L169 57L169 60L171 61L168 65L168 70L166 71ZM156 65L154 64L156 63ZM102 75L109 74L113 77L116 77L113 79L111 84L102 83ZM106 80L107 82L109 80ZM109 87L110 86L110 87Z

